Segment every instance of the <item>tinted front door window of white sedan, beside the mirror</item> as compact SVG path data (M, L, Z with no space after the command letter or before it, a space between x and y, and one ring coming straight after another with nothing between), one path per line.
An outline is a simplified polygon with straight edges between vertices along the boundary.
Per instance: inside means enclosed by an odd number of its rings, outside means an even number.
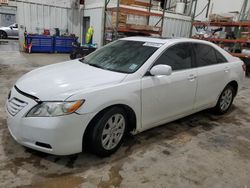
M192 49L189 44L176 44L167 49L155 62L155 65L165 64L173 70L192 68Z

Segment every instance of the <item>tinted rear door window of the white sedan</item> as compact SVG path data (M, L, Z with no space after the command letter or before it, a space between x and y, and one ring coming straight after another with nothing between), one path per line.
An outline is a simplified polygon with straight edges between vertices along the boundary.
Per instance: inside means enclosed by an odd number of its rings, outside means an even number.
M216 52L206 44L194 44L196 63L198 67L217 64Z

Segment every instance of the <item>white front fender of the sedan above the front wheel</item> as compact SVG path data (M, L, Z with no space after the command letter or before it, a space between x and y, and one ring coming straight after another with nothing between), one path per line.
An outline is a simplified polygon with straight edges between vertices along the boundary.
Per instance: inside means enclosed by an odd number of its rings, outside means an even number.
M93 91L78 92L67 100L84 99L79 114L98 113L113 105L129 106L136 115L137 125L141 125L141 87L140 80L95 88ZM138 128L139 128L138 127Z

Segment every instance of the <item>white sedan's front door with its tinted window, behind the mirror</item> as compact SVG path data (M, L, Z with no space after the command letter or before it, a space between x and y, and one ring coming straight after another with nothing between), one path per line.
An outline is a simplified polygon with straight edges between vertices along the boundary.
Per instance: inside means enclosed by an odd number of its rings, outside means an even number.
M142 127L148 129L193 109L196 92L196 70L192 46L176 44L154 63L172 67L169 76L144 76L142 87Z

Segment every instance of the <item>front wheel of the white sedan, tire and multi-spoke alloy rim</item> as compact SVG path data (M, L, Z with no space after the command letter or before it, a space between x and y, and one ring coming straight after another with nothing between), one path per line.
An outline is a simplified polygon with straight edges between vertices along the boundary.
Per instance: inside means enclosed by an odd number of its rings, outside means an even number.
M127 132L128 119L122 108L114 107L101 114L90 131L90 151L100 157L113 154Z

